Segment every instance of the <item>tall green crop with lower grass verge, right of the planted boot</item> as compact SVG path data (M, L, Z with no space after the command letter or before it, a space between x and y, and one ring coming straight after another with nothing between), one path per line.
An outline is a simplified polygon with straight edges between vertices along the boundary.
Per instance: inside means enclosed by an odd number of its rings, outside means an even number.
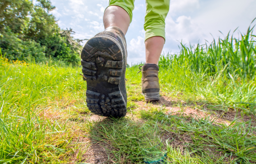
M253 28L239 39L227 35L210 44L186 47L179 54L162 55L160 81L167 90L192 99L218 103L218 109L240 108L255 113L256 36ZM193 98L195 96L195 98ZM215 106L216 107L216 106Z

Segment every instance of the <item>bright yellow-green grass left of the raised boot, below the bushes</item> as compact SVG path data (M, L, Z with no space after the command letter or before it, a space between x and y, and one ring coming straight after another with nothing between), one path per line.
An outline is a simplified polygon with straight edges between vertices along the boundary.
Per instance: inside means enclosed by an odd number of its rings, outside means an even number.
M44 163L52 161L55 153L64 154L49 140L63 125L44 115L54 107L61 110L63 99L86 106L80 68L0 58L0 70L0 163Z

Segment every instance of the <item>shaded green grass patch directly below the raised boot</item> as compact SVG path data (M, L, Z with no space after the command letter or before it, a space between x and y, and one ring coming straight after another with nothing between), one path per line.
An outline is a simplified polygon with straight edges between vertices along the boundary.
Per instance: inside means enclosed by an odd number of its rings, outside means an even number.
M109 152L114 154L112 158L116 162L142 163L145 159L155 158L149 152L164 153L162 132L157 124L141 124L129 118L113 118L96 122L90 128L94 140L111 145Z

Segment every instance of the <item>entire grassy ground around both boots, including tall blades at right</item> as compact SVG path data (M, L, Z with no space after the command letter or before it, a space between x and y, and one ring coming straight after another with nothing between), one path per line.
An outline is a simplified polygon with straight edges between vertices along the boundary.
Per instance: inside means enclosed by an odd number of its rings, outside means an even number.
M249 28L162 55L154 103L141 94L142 63L130 66L119 119L90 113L81 67L1 54L0 163L256 163L255 39Z

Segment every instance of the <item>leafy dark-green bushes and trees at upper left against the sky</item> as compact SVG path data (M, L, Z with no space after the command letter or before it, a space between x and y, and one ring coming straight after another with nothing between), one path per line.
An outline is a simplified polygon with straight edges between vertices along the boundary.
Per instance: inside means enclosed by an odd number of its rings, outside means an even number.
M49 0L0 2L0 47L10 60L43 62L46 58L77 63L82 40L61 30L49 12Z

